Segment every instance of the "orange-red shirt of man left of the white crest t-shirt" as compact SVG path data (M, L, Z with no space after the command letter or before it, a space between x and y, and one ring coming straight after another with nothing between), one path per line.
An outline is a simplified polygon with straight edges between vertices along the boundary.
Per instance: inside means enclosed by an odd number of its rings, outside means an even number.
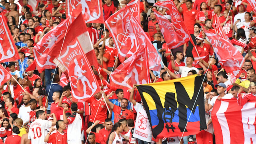
M130 110L122 110L121 107L114 105L113 112L115 113L115 121L118 122L120 119L134 119L134 114Z

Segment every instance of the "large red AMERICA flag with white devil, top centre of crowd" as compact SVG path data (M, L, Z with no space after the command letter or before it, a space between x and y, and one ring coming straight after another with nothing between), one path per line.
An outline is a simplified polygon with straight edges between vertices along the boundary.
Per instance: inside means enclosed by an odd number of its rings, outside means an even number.
M140 53L146 47L150 69L160 71L161 58L127 6L110 16L105 23L119 51L118 57L121 62L124 62L126 57Z

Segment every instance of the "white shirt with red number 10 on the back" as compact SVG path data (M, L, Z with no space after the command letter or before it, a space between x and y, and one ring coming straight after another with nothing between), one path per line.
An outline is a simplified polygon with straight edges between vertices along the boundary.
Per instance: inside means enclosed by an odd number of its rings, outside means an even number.
M47 129L51 125L52 122L42 119L36 119L32 122L28 131L28 139L31 139L31 144L47 144L44 140L47 135Z

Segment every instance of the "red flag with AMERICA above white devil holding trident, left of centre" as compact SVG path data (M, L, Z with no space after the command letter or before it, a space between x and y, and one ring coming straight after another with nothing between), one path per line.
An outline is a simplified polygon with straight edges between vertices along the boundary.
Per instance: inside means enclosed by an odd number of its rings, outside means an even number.
M100 86L79 39L69 38L73 41L63 48L59 62L68 70L73 101L84 102L100 92Z

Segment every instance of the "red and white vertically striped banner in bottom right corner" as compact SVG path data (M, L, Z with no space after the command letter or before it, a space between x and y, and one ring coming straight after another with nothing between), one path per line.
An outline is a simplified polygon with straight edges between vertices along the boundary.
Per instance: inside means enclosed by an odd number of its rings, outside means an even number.
M216 143L255 143L256 102L239 106L237 99L216 100L211 118Z

